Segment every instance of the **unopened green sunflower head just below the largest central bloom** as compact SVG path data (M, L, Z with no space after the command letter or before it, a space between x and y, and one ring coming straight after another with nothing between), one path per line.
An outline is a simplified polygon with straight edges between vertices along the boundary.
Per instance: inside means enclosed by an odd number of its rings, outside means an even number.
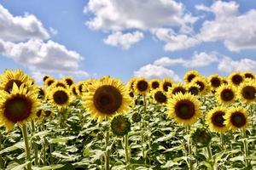
M111 121L111 129L117 136L125 136L131 131L131 122L123 115L114 116Z

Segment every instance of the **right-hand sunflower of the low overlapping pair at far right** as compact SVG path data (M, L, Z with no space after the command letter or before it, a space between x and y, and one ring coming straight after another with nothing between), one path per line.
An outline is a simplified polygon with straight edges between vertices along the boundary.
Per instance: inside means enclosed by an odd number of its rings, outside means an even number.
M224 119L224 124L232 130L246 128L248 125L247 111L242 107L231 107Z

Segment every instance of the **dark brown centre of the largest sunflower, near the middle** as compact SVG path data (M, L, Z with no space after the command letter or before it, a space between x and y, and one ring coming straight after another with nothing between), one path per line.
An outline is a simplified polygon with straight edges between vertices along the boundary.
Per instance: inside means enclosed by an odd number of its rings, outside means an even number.
M122 105L122 94L111 85L104 85L96 89L93 96L93 103L98 111L106 114L112 114L118 111Z

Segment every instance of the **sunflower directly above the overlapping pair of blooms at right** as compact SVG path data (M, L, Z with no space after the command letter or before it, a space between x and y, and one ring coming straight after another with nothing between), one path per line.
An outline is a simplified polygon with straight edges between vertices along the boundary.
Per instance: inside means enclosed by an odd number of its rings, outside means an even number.
M215 97L219 104L229 105L236 99L236 88L230 84L223 84L217 88Z

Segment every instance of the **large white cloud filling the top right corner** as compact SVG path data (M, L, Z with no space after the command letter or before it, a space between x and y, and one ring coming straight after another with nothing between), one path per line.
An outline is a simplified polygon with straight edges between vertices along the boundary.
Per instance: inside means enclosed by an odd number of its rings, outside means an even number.
M214 20L206 20L199 37L205 42L223 41L230 51L256 48L256 10L247 13L239 12L236 2L217 1L210 8L203 5L198 9L210 11Z

